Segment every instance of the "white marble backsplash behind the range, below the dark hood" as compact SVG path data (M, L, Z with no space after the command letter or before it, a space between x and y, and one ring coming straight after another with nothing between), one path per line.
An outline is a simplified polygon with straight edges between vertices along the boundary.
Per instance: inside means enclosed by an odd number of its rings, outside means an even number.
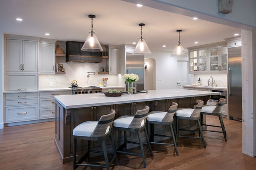
M39 74L39 88L67 88L73 80L77 80L80 87L103 84L103 77L108 77L107 86L125 86L125 80L121 74L98 74L104 63L62 63L66 74ZM95 72L95 75L87 77L87 72Z

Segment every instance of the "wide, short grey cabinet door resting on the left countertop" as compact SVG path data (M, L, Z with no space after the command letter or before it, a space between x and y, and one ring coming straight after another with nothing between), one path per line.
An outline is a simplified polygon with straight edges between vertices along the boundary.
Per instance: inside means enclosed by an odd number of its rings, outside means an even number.
M7 73L6 91L37 90L38 74Z

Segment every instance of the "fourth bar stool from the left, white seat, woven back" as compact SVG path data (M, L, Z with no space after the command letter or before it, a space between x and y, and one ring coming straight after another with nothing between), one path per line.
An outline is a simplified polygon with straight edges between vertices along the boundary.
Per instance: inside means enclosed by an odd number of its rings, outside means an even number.
M202 106L204 105L204 101L202 100L196 100L195 105L193 109L191 108L178 108L176 111L176 129L177 129L177 142L179 137L185 137L185 138L197 138L202 139L202 142L204 144L204 147L206 147L204 142L204 136L202 133L202 128L200 125L200 112L202 109ZM198 130L189 130L189 129L180 129L179 128L179 120L180 119L188 119L188 120L196 120L198 123ZM189 132L197 132L199 133L199 136L179 136L179 131L189 131Z

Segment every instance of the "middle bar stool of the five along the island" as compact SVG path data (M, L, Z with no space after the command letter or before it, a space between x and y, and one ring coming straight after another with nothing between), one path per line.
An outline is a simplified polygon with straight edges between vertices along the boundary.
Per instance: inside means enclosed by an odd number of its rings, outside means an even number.
M152 141L150 142L151 144L163 144L163 145L172 145L175 148L176 155L179 156L178 150L177 150L177 143L176 143L176 132L175 132L175 127L174 127L174 121L173 121L173 116L175 115L175 112L178 108L178 104L175 102L172 102L172 105L169 107L167 112L162 112L162 111L151 111L148 113L148 127L151 127L151 137ZM152 124L152 126L150 126ZM167 136L167 135L160 135L154 133L154 124L160 124L160 125L169 125L171 129L171 134L172 136ZM171 143L161 143L161 142L154 142L154 136L162 136L162 137L168 137L173 140L173 144Z

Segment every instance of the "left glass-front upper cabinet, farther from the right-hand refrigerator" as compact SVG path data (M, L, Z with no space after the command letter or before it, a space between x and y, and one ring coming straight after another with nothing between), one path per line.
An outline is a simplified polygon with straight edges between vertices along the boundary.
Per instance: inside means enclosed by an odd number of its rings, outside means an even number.
M189 73L207 72L207 48L189 51Z

